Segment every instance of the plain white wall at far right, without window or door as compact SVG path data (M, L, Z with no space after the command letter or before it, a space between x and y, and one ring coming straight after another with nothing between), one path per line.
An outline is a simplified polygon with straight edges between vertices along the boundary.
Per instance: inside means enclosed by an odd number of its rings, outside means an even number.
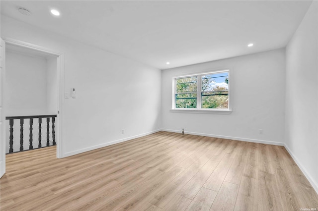
M286 148L318 192L318 2L286 47Z

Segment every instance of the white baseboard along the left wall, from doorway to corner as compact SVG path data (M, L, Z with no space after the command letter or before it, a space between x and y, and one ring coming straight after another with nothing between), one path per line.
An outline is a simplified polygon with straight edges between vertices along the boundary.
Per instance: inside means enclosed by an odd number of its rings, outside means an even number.
M111 141L111 142L107 142L107 143L103 143L103 144L99 144L99 145L94 145L94 146L91 146L91 147L83 148L83 149L80 149L80 150L75 150L75 151L68 152L68 153L64 153L62 158L66 158L66 157L69 157L69 156L74 156L74 155L77 155L79 153L84 153L84 152L87 152L87 151L96 150L98 148L107 147L109 145L113 145L113 144L129 141L129 140L136 139L136 138L143 137L143 136L147 136L147 135L150 135L150 134L153 134L153 133L157 133L159 131L161 131L161 129L150 131L150 132L143 133L143 134L139 134L139 135L136 135L136 136L127 137L127 138L124 138L124 139L118 139L118 140L115 140L115 141Z

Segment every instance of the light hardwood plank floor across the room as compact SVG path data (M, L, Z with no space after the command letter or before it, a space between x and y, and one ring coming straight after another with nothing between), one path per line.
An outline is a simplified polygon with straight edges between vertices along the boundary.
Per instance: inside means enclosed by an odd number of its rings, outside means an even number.
M284 147L158 132L57 159L6 156L0 210L300 211L318 195Z

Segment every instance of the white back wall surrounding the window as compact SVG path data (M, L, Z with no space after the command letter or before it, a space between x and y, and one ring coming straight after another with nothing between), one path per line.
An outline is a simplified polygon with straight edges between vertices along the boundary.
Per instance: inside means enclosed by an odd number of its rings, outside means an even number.
M230 68L231 114L171 112L172 78ZM162 71L162 128L282 145L285 50L279 49ZM263 134L259 134L263 129Z

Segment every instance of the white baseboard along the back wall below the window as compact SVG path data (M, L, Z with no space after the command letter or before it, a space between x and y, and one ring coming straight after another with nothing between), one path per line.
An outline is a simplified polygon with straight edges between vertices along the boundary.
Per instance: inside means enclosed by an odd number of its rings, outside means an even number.
M180 133L179 130L170 130L170 129L161 129L161 130L167 131L167 132ZM231 140L245 141L245 142L254 142L254 143L260 143L260 144L284 146L284 143L282 142L274 142L274 141L266 141L266 140L258 140L258 139L248 139L248 138L222 136L222 135L207 134L207 133L196 133L196 132L188 132L188 131L186 132L186 134L197 135L197 136L208 136L208 137L215 137L215 138L222 138L222 139L231 139Z

